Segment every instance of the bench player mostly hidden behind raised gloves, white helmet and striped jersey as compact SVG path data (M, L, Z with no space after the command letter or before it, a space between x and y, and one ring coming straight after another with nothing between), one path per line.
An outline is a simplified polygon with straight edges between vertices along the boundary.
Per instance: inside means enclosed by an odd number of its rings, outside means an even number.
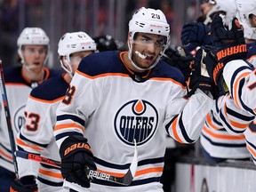
M228 9L225 9L227 6ZM223 12L224 10L226 12ZM212 16L216 13L225 13L225 25L228 25L228 20L236 16L236 2L218 0L210 12ZM223 93L220 93L220 96L221 94ZM244 134L232 135L221 123L218 115L220 101L220 98L216 99L216 104L207 115L203 127L200 142L204 159L210 163L220 163L227 159L247 160L250 153L246 148Z

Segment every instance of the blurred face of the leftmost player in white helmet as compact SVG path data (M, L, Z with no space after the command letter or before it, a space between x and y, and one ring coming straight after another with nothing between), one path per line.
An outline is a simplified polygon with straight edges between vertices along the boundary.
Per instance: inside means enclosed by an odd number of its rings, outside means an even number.
M44 69L47 48L44 45L24 45L22 54L25 65L33 72L40 72Z

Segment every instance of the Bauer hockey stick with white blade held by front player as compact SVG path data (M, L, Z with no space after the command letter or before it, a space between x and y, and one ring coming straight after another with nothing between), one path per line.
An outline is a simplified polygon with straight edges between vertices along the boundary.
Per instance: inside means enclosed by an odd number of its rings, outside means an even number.
M52 165L55 167L59 167L61 163L59 161L54 161L50 158L46 158L43 156L38 156L35 154L31 154L25 151L16 151L16 156L19 156L21 158L24 159L28 159L28 160L33 160L42 164L48 164L48 165ZM98 180L108 180L110 182L114 182L114 183L118 183L124 186L129 186L135 176L136 170L137 170L137 165L138 165L138 151L137 151L137 145L135 142L135 148L134 148L134 155L132 158L132 164L129 167L128 172L125 173L124 177L116 177L113 175L110 175L108 173L104 173L104 172L97 172L97 171L93 171L88 169L88 177L92 177Z

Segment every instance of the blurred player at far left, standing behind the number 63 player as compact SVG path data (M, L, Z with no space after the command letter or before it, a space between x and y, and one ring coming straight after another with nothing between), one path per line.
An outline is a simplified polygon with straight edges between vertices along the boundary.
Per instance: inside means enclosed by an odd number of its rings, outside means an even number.
M14 137L24 124L23 112L31 90L44 80L59 74L56 70L44 67L49 52L49 38L42 28L24 28L20 33L17 45L19 62L22 65L4 68ZM9 191L15 174L2 101L0 105L0 191L5 192Z

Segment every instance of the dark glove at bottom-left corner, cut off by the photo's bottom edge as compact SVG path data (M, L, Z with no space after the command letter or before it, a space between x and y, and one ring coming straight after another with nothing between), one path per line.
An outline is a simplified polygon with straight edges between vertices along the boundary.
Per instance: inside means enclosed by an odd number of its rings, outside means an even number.
M13 180L10 192L37 192L36 178L34 176L25 176L20 180Z

